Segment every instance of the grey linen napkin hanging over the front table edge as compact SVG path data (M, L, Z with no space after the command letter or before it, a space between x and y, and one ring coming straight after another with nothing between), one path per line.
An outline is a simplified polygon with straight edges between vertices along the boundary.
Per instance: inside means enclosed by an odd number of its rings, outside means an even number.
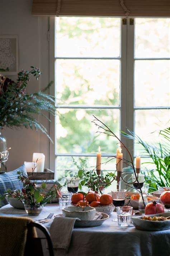
M53 248L55 250L65 249L66 252L69 250L72 230L76 220L79 219L56 217L53 220L49 232L51 234Z

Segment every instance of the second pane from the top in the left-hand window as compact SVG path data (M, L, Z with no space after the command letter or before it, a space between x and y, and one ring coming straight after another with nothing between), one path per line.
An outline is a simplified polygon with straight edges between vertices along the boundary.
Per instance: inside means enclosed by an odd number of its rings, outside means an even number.
M58 104L119 105L119 60L56 60Z

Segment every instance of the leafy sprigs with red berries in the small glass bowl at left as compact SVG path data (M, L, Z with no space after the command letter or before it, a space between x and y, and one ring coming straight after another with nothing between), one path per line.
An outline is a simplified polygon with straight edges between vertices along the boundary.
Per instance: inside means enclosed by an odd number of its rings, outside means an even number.
M28 176L26 176L23 172L18 172L18 175L18 179L23 184L22 191L7 189L7 191L4 193L4 197L7 196L18 198L18 200L21 200L26 205L33 207L44 206L47 202L56 197L57 191L61 188L60 183L56 181L48 192L46 192L45 182L41 184L41 187L38 187L36 185L36 181L29 180Z

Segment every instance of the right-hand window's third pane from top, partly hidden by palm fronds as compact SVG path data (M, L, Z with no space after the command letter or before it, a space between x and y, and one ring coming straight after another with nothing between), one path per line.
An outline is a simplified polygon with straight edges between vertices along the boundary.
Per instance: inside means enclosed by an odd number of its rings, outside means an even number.
M135 111L135 133L148 143L157 143L161 141L159 131L169 127L170 111L167 109L147 109ZM135 154L137 150L143 154L143 147L139 144L135 145Z

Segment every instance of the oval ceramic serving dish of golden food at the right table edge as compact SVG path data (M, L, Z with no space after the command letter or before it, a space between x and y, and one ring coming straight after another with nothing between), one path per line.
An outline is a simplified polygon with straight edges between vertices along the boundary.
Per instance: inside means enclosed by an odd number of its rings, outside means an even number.
M152 215L143 215L143 216L169 217L170 212L164 212L164 213L152 214ZM170 220L166 220L166 221L142 220L143 216L132 217L132 222L133 222L133 225L135 228L140 229L140 230L148 230L148 231L159 231L159 230L170 229Z

